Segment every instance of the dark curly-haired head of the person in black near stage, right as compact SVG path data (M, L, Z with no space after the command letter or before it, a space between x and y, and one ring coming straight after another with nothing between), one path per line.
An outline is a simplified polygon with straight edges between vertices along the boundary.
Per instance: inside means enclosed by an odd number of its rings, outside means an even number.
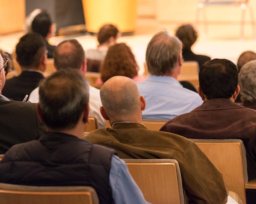
M177 29L175 35L182 42L183 49L190 49L197 39L197 32L195 31L194 27L190 24L181 25Z

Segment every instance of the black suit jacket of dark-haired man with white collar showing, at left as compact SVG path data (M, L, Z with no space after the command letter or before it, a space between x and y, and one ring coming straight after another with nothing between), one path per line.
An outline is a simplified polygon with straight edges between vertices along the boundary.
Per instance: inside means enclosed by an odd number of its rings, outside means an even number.
M44 78L39 72L22 71L20 76L6 80L2 94L12 100L22 101L26 94L29 94L38 87L38 83Z

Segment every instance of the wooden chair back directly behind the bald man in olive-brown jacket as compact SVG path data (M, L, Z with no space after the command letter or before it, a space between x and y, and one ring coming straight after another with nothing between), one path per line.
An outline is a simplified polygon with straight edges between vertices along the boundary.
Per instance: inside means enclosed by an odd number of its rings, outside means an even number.
M175 159L124 159L145 199L184 204L180 168Z

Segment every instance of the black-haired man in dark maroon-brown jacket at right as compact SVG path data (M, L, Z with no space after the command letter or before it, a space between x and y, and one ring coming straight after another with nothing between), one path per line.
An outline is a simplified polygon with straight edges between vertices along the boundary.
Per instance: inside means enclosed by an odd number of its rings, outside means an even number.
M199 71L199 84L204 103L168 121L160 130L193 139L241 139L248 179L255 179L256 111L234 103L240 91L236 65L226 59L206 62Z

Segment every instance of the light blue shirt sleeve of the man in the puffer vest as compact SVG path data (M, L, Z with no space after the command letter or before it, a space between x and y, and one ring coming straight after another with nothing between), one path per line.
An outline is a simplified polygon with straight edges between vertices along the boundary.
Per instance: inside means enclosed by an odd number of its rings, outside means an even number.
M115 204L150 204L132 179L125 162L116 155L111 160L109 184Z

